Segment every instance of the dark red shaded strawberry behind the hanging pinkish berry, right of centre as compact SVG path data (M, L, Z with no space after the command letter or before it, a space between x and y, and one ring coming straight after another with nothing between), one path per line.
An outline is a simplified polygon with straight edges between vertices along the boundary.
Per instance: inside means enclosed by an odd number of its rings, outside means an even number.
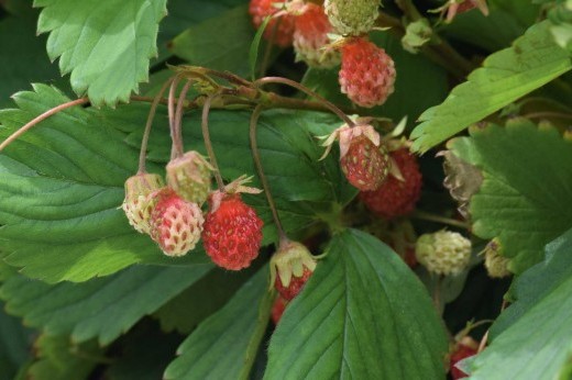
M410 213L421 194L422 181L417 158L406 148L392 152L389 155L403 178L389 175L377 190L360 192L363 203L385 219Z

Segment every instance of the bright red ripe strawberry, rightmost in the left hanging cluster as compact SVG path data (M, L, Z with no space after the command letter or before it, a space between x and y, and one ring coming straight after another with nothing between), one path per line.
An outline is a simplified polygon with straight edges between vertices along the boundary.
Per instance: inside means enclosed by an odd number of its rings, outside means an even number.
M249 267L258 256L262 220L239 193L216 192L209 198L209 204L202 232L207 254L222 268L240 270Z

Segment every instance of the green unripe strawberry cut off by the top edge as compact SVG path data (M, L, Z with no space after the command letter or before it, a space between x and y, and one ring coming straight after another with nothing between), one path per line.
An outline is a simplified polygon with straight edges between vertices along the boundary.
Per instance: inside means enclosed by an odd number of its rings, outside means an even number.
M338 33L360 35L370 32L380 15L380 0L326 0L326 14Z

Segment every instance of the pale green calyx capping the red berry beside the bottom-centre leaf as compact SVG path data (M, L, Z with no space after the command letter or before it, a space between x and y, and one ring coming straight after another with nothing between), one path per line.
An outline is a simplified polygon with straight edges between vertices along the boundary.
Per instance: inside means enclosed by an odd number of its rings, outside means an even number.
M301 243L284 241L271 259L271 289L280 281L284 288L288 288L294 278L301 278L306 270L316 270L316 258Z

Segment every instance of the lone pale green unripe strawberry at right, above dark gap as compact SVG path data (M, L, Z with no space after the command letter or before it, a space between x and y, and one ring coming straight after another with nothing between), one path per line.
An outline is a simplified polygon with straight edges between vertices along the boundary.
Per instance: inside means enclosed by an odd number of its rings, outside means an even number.
M471 259L471 241L450 231L425 234L417 239L415 254L430 272L459 275Z

